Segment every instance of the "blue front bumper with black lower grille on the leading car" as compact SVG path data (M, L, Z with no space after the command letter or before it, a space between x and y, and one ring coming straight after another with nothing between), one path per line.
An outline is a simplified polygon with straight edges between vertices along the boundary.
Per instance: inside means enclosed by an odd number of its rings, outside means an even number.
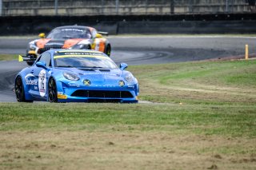
M75 82L57 81L59 102L138 103L138 85L86 86Z

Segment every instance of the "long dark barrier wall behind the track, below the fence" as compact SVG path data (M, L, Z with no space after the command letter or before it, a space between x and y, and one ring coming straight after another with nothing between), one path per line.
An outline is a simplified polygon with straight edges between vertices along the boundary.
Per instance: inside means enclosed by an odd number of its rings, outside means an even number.
M110 34L256 34L256 14L0 17L0 35L48 33L57 26L93 26Z

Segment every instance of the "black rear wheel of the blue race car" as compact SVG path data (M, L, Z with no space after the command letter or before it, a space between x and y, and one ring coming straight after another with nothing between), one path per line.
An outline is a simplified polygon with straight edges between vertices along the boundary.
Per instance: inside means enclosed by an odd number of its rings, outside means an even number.
M14 85L15 95L18 102L33 102L26 100L25 91L22 83L22 77L17 77Z

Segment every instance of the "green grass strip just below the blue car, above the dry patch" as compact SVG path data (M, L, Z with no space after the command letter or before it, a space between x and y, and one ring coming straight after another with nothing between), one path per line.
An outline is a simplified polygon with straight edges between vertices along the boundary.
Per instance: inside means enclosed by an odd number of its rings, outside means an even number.
M90 129L256 136L253 105L0 104L0 130ZM132 128L128 128L128 127ZM120 130L120 129L119 129Z

